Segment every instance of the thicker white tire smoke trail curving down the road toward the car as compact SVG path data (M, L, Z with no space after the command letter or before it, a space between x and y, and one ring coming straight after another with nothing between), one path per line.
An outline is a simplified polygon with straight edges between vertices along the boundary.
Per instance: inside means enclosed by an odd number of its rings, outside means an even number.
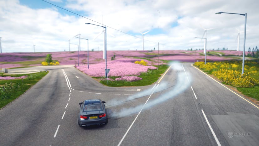
M168 91L165 94L161 95L160 97L147 102L145 104L145 106L144 106L144 104L141 104L136 107L123 108L119 112L114 112L111 115L111 117L120 118L120 117L126 117L129 115L138 113L142 108L143 108L143 110L149 109L149 108L151 108L159 103L165 102L166 100L171 99L171 98L177 96L178 94L182 93L183 91L185 91L190 86L190 81L187 78L187 76L189 76L189 73L184 72L182 66L180 66L179 63L173 63L172 67L173 67L173 70L175 70L177 72L177 82L171 91ZM129 98L131 100L132 100L132 98L134 99L134 97L129 97ZM127 99L129 99L129 98L127 98Z

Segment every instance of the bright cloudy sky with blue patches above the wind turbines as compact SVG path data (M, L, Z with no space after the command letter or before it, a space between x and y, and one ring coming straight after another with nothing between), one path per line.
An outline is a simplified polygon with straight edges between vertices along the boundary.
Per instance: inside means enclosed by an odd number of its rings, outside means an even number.
M246 50L259 46L258 0L46 0L85 18L42 0L0 0L0 37L2 52L77 50L79 39L89 39L89 50L103 50L102 27L107 26L107 50L236 50L240 31L243 50L245 17L216 12L247 13ZM89 18L89 19L87 19ZM91 21L94 20L94 21ZM97 23L98 22L98 23ZM117 29L117 30L116 30ZM118 31L119 30L119 31ZM129 35L130 34L130 35ZM81 39L81 50L87 40Z

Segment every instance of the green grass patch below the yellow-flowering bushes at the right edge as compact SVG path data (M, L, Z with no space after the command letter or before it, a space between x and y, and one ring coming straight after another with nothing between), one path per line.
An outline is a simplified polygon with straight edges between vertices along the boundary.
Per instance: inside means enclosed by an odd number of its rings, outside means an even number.
M242 94L249 96L249 97L253 97L259 101L259 84L256 86L253 86L251 88L237 87L237 90L242 92Z

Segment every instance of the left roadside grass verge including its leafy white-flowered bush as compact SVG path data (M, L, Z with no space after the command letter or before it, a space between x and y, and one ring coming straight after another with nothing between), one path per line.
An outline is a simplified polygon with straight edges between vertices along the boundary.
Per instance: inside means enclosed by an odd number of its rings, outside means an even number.
M35 85L40 79L42 79L48 72L38 72L32 74L19 74L19 75L2 75L2 76L28 76L26 79L14 79L14 80L0 80L0 108L4 107L8 103L15 100L17 97L22 95L31 86ZM9 89L6 87L3 91L3 86L12 85L13 88Z

